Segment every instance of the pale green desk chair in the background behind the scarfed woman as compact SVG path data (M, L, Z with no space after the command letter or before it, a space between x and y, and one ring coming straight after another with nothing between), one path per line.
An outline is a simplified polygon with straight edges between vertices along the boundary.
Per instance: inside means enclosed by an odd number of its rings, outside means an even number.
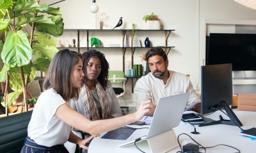
M125 94L125 82L127 78L124 77L124 71L109 71L108 80L111 82L116 97L124 96ZM129 112L128 106L121 106L121 109L126 109ZM122 110L125 115L124 111Z

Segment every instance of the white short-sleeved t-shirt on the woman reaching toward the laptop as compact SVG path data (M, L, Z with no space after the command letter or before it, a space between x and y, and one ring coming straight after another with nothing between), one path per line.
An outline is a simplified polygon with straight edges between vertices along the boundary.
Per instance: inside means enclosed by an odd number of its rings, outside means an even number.
M65 103L54 89L47 89L39 96L28 125L28 136L38 145L52 147L68 141L71 127L55 115L57 108Z

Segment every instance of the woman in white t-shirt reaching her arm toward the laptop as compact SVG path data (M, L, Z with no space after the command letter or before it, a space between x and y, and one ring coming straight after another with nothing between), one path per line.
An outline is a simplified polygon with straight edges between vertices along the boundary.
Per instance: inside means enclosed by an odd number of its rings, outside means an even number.
M140 120L148 112L148 103L137 112L114 119L91 121L67 104L79 95L84 77L81 55L70 50L60 50L52 59L45 80L44 91L38 98L28 125L28 136L21 152L68 152L64 143L76 143L88 149L86 143L93 136L83 140L72 132L71 127L91 135Z

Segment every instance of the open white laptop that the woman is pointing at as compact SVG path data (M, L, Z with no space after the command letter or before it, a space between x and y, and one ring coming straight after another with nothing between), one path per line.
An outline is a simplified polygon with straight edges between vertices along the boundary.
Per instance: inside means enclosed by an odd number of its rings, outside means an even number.
M136 140L140 142L179 126L188 98L189 92L159 99L148 134ZM132 145L134 142L135 140L131 140L118 145L118 147Z

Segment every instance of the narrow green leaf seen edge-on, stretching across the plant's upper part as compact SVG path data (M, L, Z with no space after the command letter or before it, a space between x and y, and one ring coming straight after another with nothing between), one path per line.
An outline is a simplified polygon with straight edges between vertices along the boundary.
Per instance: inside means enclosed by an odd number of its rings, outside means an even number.
M27 20L22 20L22 22L17 23L17 26L21 26L23 24L32 24L33 22L35 23L42 23L45 25L55 25L54 22L52 22L51 18L45 17L43 15L40 15L38 17L31 17L27 18Z

